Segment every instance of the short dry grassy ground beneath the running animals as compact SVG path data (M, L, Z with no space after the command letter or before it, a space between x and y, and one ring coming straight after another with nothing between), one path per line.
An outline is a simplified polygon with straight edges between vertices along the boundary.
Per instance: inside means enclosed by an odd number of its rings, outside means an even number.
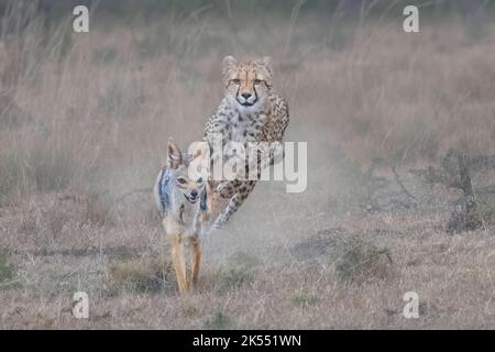
M116 223L103 226L88 223L87 205L72 194L4 207L1 245L16 274L2 283L1 327L493 327L493 229L447 234L450 211L438 199L459 195L408 185L422 206L392 211L352 201L336 209L324 197L308 209L299 195L258 185L235 220L204 242L199 285L185 297L176 290L160 221L140 213L148 195L133 196ZM397 201L395 185L388 188L383 201ZM333 195L342 199L348 191ZM307 197L317 198L318 188L314 193ZM266 194L274 200L261 209ZM88 320L72 312L79 290L89 296ZM403 315L407 292L419 296L417 319Z

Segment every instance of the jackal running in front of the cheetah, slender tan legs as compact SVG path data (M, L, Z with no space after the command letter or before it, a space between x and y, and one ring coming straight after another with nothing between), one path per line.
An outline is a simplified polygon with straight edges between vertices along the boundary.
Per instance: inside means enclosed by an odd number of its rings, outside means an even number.
M193 284L198 280L201 261L200 233L208 220L206 188L208 175L191 168L200 166L204 161L209 164L208 156L207 144L201 145L194 154L183 154L170 138L167 166L160 172L153 189L156 206L162 215L162 223L172 246L172 262L180 293L189 289L185 244L193 248Z

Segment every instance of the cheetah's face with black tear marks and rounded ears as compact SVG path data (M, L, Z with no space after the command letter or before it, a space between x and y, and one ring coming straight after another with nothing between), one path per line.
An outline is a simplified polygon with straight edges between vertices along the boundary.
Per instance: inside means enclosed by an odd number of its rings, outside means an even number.
M238 62L232 56L223 58L226 97L241 109L253 109L265 102L272 88L272 59Z

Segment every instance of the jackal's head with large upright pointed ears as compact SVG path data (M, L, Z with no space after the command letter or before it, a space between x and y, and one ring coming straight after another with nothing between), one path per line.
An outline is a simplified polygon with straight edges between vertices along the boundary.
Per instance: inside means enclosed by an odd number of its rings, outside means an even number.
M167 166L172 170L172 184L195 204L205 190L208 178L209 147L208 143L195 143L189 147L190 153L183 154L174 139L168 140Z

